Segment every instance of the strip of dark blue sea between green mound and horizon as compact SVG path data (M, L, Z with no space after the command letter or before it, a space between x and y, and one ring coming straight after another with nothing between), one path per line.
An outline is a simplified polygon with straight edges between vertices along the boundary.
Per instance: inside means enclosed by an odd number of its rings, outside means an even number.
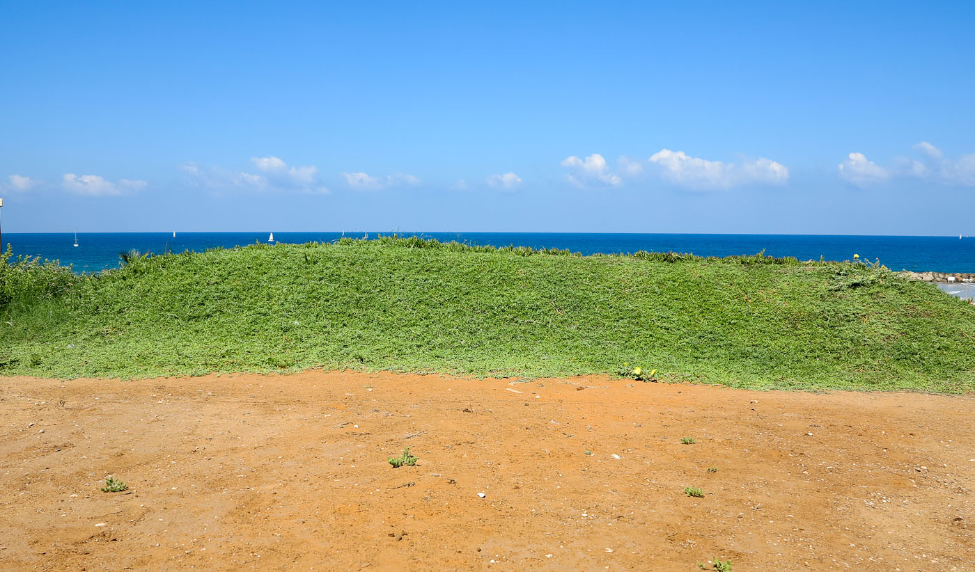
M368 233L375 237L377 233ZM400 233L416 234L440 241L475 245L533 248L567 248L583 254L635 252L637 250L693 252L702 256L755 254L764 249L772 256L796 256L800 260L820 256L827 260L848 260L854 253L894 270L975 272L975 238L957 237L872 237L815 235L691 235L613 233ZM364 233L345 233L363 237ZM275 233L279 243L331 242L342 236L335 232ZM98 272L119 265L119 252L137 248L156 253L185 249L232 248L266 242L268 233L83 233L78 247L73 234L4 233L15 254L59 259L75 272Z

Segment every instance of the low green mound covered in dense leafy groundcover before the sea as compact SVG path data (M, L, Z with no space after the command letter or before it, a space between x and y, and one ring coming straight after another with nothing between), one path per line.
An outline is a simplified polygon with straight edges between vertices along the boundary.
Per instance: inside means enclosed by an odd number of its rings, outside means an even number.
M639 365L737 387L975 390L975 308L859 263L389 237L130 256L94 277L4 262L5 375Z

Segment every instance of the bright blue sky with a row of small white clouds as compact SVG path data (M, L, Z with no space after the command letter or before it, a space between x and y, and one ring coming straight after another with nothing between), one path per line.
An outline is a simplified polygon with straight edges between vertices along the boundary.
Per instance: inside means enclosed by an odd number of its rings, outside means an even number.
M7 0L4 230L975 235L972 29L972 2Z

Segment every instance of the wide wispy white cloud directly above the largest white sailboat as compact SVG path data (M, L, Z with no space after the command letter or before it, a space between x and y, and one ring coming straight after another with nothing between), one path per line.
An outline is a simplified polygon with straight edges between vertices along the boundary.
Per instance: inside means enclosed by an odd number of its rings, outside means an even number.
M229 172L218 167L201 168L195 163L179 166L197 186L216 191L298 191L306 193L328 193L316 176L318 168L314 165L289 167L278 157L252 157L251 162L258 173Z

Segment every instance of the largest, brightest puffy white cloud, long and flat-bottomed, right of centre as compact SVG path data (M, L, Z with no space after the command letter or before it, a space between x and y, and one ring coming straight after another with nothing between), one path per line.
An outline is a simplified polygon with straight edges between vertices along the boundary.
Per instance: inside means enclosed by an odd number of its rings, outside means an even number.
M662 170L665 178L683 187L729 188L743 184L783 184L789 170L781 163L760 157L740 165L691 157L683 151L661 149L649 162Z

